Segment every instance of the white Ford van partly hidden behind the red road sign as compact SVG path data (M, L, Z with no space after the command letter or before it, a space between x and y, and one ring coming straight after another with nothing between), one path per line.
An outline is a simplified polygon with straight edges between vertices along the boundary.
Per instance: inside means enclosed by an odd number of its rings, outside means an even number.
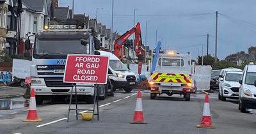
M108 77L111 81L111 88L113 91L116 89L124 89L126 93L130 93L133 87L136 86L136 75L128 70L115 54L106 51L100 51L101 56L109 56Z

